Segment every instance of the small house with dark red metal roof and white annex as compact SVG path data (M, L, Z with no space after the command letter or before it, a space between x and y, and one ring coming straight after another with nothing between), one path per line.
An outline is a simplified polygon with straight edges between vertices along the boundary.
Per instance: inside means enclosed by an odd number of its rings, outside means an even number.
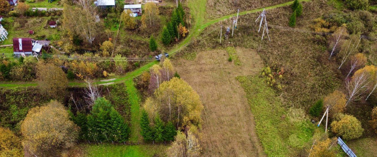
M13 38L13 54L32 55L41 52L42 45L32 38Z

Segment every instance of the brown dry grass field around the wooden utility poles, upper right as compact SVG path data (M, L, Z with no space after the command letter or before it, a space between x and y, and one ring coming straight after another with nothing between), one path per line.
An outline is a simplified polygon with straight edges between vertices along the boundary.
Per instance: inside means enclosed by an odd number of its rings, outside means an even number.
M323 1L302 4L303 14L297 18L296 23L298 29L311 30L313 19L334 10ZM259 14L260 12L240 16L234 36L227 41L223 40L222 44L219 44L219 30L190 46L186 52L228 46L255 49L261 55L264 65L284 68L285 75L282 83L285 87L278 93L283 104L288 107L308 109L318 99L341 85L337 61L328 60L326 45L316 43L315 35L270 28L271 42L268 42L266 38L261 41L262 33L257 32L258 27L254 23ZM267 11L267 21L271 25L288 26L291 14L290 6L270 9ZM219 25L231 26L231 20L224 20L209 26L203 32L210 31Z

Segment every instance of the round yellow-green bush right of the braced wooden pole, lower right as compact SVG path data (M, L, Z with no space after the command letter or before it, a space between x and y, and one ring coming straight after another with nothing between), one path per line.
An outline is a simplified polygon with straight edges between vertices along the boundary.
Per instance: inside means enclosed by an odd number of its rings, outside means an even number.
M331 123L331 131L337 136L342 136L345 140L359 138L364 129L359 120L352 115L344 115L338 113L335 120Z

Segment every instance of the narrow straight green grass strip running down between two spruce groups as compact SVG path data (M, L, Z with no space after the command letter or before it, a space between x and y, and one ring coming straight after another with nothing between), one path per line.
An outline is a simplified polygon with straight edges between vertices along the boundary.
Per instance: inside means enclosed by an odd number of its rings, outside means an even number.
M133 84L133 80L129 79L125 82L127 92L129 95L129 102L131 104L131 134L130 134L130 141L133 143L138 143L141 140L140 135L140 99Z

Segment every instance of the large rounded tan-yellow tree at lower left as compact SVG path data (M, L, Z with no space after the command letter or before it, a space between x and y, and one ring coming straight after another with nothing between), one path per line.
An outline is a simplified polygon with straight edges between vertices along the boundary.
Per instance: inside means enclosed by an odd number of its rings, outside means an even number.
M32 108L21 124L24 148L38 157L57 156L61 150L71 148L80 128L69 118L67 110L57 101Z

